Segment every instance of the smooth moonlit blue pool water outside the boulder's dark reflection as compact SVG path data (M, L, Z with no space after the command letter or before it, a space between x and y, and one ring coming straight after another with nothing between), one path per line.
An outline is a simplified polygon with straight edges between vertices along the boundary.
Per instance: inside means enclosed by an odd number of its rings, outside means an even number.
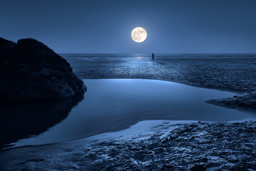
M141 120L228 121L250 113L205 103L234 93L143 79L87 79L88 91L67 118L40 135L12 144L43 145L87 138L129 128Z

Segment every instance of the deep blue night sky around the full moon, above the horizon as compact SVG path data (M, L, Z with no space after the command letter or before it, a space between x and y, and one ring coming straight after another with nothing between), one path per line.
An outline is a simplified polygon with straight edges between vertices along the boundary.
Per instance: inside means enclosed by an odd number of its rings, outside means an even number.
M57 53L256 53L256 1L1 0L0 37Z

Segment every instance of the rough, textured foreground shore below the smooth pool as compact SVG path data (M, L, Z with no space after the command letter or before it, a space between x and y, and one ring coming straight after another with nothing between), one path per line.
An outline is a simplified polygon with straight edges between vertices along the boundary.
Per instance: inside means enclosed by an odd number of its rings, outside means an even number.
M256 170L255 128L255 121L143 121L121 133L2 152L0 169Z

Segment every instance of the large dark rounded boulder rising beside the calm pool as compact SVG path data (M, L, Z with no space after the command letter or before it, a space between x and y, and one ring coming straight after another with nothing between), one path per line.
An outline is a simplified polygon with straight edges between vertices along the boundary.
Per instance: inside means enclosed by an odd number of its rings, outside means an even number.
M34 38L0 38L0 79L4 102L63 99L87 89L64 58Z

